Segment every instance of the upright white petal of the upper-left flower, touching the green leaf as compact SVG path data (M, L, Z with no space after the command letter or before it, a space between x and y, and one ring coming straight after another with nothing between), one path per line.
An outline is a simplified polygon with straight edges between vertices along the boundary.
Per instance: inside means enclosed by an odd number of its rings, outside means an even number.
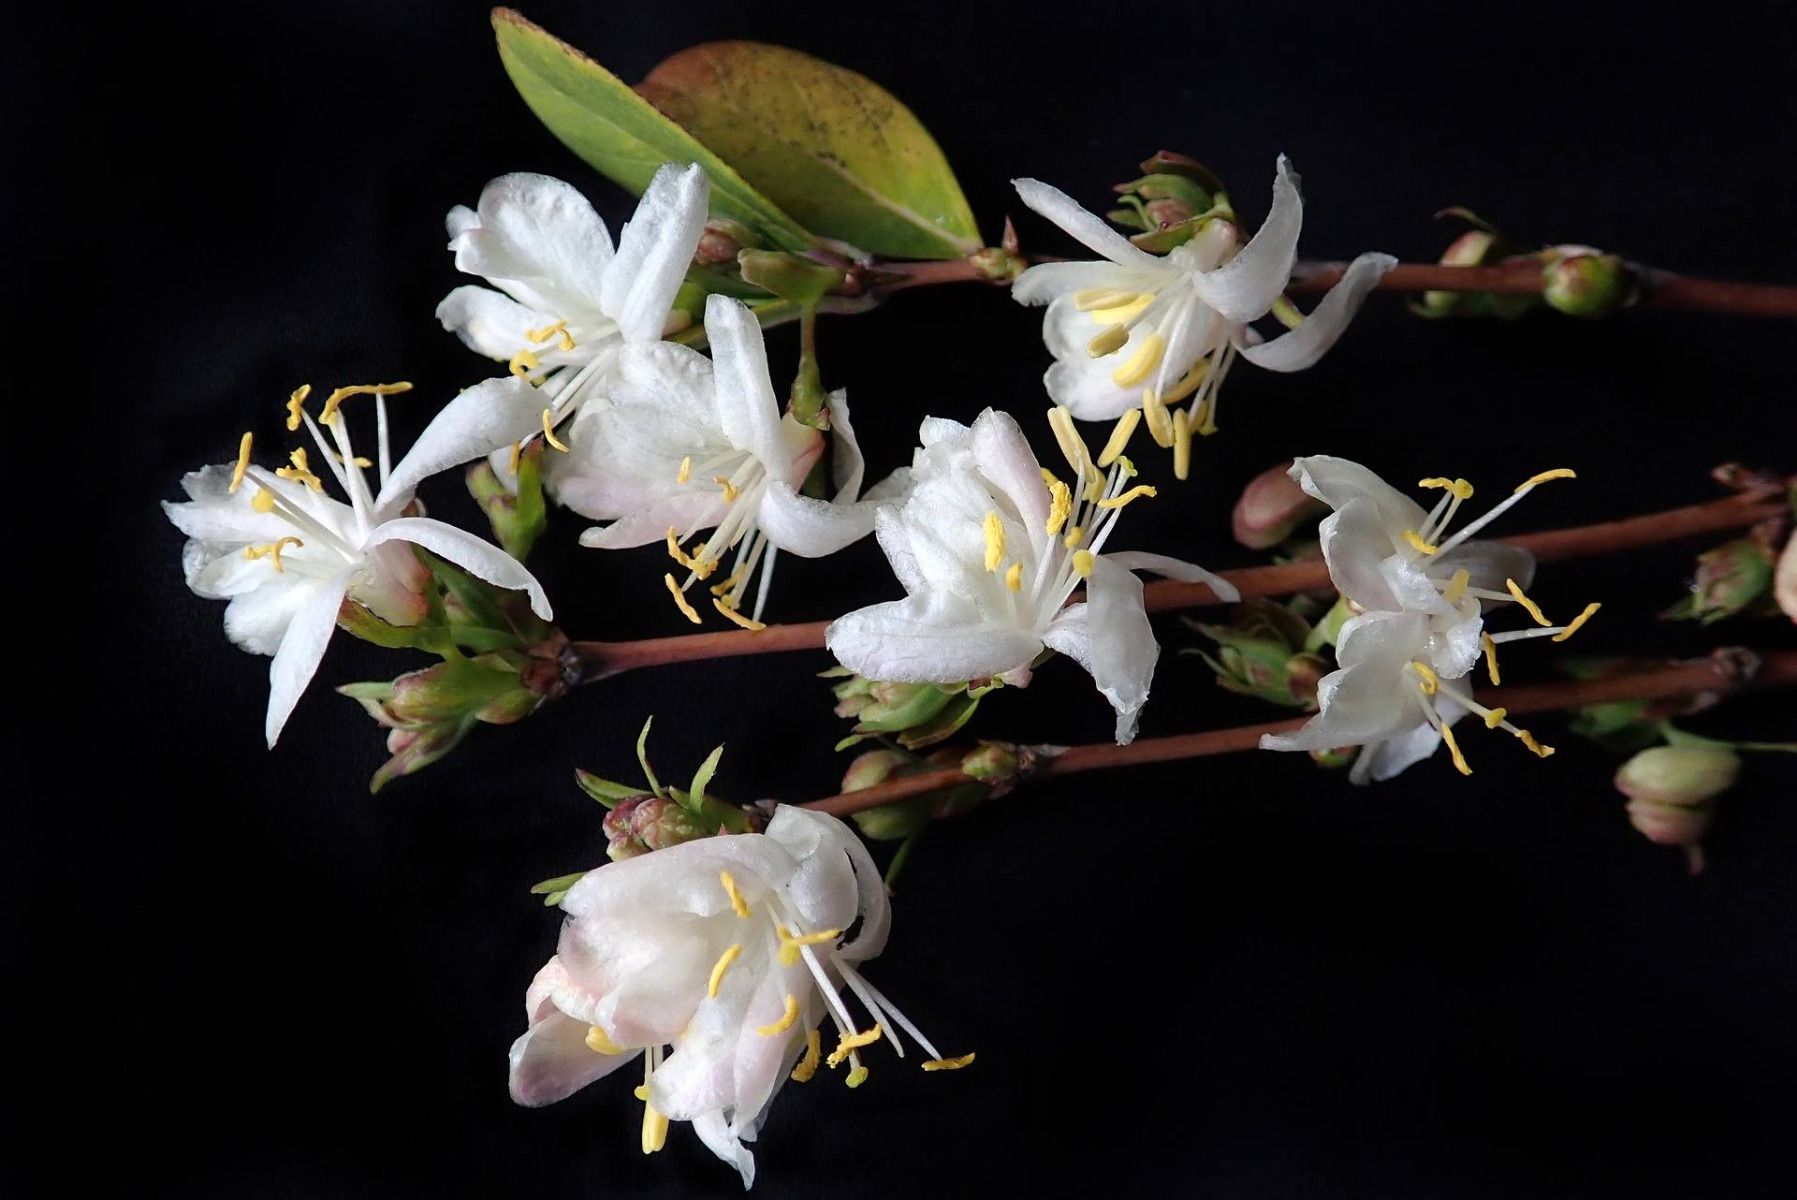
M710 183L699 163L663 163L618 235L600 304L633 341L656 341L704 234Z

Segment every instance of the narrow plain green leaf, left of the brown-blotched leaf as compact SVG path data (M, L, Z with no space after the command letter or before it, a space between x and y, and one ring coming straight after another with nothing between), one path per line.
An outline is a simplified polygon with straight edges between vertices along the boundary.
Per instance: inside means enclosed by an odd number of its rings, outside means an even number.
M492 11L492 31L505 74L530 111L607 180L642 196L661 163L695 162L712 178L712 212L742 221L783 250L814 244L722 158L588 56L512 9Z

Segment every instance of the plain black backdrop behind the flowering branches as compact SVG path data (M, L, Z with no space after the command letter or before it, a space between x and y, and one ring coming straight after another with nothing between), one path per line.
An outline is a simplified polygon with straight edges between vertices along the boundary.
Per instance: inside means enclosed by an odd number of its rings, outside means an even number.
M527 14L625 79L739 36L863 70L938 135L988 239L1021 208L1008 178L1098 207L1163 146L1231 180L1254 221L1285 151L1305 176L1310 257L1427 260L1450 235L1430 212L1466 203L1526 243L1797 278L1797 38L1783 5L539 2ZM728 796L834 790L841 722L812 679L825 659L620 677L483 729L370 798L379 737L329 686L413 663L338 640L266 753L266 661L230 649L219 605L183 589L181 539L155 507L181 471L228 460L244 428L277 444L302 381L415 381L395 404L404 446L483 377L431 313L464 282L442 214L489 176L568 178L613 228L629 198L530 117L478 4L65 16L56 36L14 31L5 117L22 291L72 293L47 314L54 340L16 361L58 365L56 384L14 375L11 402L92 392L79 420L90 447L101 438L81 458L93 474L68 490L106 508L99 537L59 537L97 562L86 600L101 636L79 654L66 640L14 647L16 663L79 684L59 711L74 749L9 787L29 810L20 932L41 952L14 988L43 1006L14 1037L50 1085L29 1092L34 1107L86 1148L58 1155L56 1191L735 1193L686 1128L638 1155L625 1083L539 1112L510 1105L505 1049L555 940L527 887L602 860L600 810L571 771L629 776L649 713L665 774L722 740ZM99 212L74 208L75 194ZM1066 250L1044 223L1019 225L1026 246ZM79 251L101 259L88 275L70 269ZM872 467L907 458L924 413L994 404L1042 433L1039 320L987 289L828 320L827 383L850 390ZM778 377L791 331L771 343ZM1292 453L1396 480L1466 474L1486 494L1580 469L1509 532L1705 499L1713 463L1797 465L1790 347L1788 323L1429 325L1375 298L1315 370L1236 372L1197 480L1134 507L1125 543L1251 562L1229 541L1229 503ZM426 499L478 521L453 476ZM43 512L27 523L41 528ZM568 631L685 629L658 551L580 551L579 528L557 519L532 562ZM1775 622L1653 622L1693 550L1556 566L1536 595L1556 613L1605 600L1585 650L1790 645ZM812 620L893 595L870 543L787 560L771 613ZM1191 643L1177 622L1161 634L1146 737L1269 717L1172 654ZM1531 643L1509 672L1547 677L1551 657ZM1739 701L1698 728L1788 737L1788 701ZM1792 1195L1797 772L1752 762L1711 871L1687 878L1675 851L1630 830L1616 760L1542 728L1562 746L1547 763L1468 737L1472 780L1438 758L1357 790L1303 756L1236 756L1042 785L934 830L872 974L979 1062L925 1076L877 1058L857 1092L837 1078L789 1087L757 1151L758 1189ZM1094 740L1109 711L1058 665L996 697L976 729ZM36 841L43 817L68 821L59 848ZM23 1193L38 1187L27 1177Z

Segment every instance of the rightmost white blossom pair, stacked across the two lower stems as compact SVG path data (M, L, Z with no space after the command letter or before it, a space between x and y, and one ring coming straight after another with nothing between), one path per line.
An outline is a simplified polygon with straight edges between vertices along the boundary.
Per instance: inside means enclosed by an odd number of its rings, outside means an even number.
M1544 471L1517 487L1483 517L1445 537L1461 503L1472 498L1466 480L1429 478L1418 487L1441 489L1430 512L1360 463L1310 456L1292 463L1292 478L1333 512L1319 535L1330 580L1359 613L1342 625L1337 665L1317 684L1317 715L1290 735L1267 735L1263 749L1312 751L1360 746L1350 778L1385 780L1448 744L1454 767L1472 774L1452 724L1472 711L1486 728L1506 729L1545 758L1553 747L1506 719L1502 708L1479 704L1454 681L1479 661L1499 683L1497 647L1524 638L1565 641L1590 620L1590 604L1565 625L1554 625L1524 587L1535 559L1502 543L1472 535L1567 469ZM1538 629L1490 634L1484 605L1517 602Z

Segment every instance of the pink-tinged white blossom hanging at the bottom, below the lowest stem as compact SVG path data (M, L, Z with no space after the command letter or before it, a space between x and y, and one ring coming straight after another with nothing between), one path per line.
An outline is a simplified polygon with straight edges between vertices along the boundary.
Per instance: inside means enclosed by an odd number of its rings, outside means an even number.
M661 1150L668 1121L690 1121L748 1187L755 1155L744 1143L789 1078L846 1062L859 1087L863 1047L886 1040L902 1056L900 1031L929 1056L924 1071L974 1058L945 1058L857 970L884 949L891 911L866 848L836 817L780 807L766 834L589 871L561 907L561 943L512 1044L512 1099L550 1105L642 1058L643 1153ZM868 1029L845 992L872 1017Z

